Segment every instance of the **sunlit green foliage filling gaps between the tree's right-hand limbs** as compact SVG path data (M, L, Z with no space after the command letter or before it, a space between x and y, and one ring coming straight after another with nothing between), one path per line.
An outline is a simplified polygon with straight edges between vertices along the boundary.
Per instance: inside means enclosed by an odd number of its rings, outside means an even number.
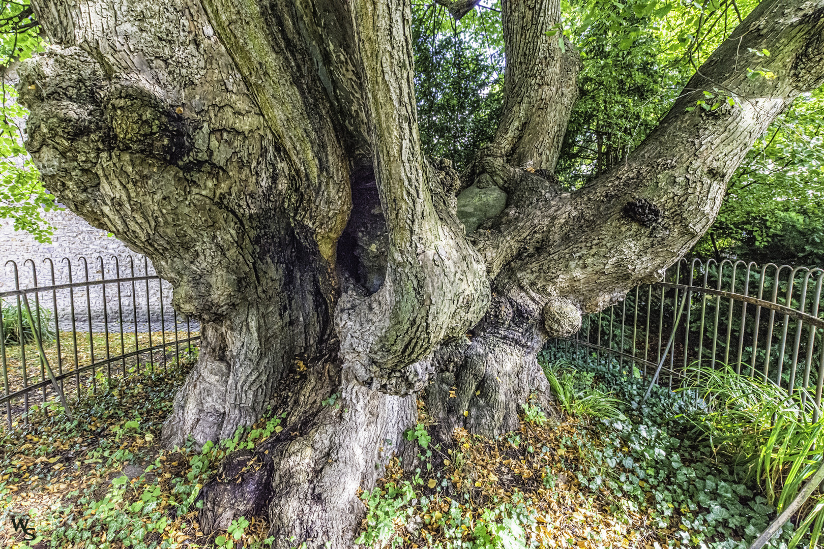
M697 67L754 0L564 0L563 33L578 49L580 99L556 175L578 188L622 161L671 108ZM424 149L461 169L493 137L503 100L499 0L455 22L437 3L413 5L416 94ZM765 53L765 55L768 53ZM759 67L747 67L754 77ZM712 109L725 91L708 90ZM711 99L710 99L711 98ZM693 254L760 263L824 264L821 118L824 92L799 98L733 175L714 226Z

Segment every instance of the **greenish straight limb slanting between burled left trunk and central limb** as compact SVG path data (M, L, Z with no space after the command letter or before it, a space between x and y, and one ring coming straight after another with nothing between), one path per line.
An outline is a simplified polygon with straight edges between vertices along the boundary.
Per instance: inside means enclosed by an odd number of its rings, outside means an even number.
M302 179L295 219L331 269L351 207L349 161L369 152L348 7L287 0L203 3Z

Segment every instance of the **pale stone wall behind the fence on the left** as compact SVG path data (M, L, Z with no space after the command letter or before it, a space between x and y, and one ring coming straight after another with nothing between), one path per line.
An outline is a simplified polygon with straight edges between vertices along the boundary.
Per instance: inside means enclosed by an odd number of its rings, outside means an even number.
M73 282L115 279L118 269L121 278L155 274L152 263L142 255L72 212L59 210L45 216L56 227L51 244L40 244L28 233L14 230L12 221L0 220L0 261L4 266L0 293L16 287L65 284L70 275ZM15 282L15 267L19 286ZM58 311L61 331L72 330L74 321L76 331L87 332L90 317L94 332L102 332L106 324L110 331L119 331L121 319L124 332L134 332L135 325L138 332L145 332L150 323L152 332L160 330L162 323L166 330L174 329L171 285L166 281L150 280L148 285L147 281L98 283L89 286L88 291L82 286L38 292L37 297L40 306L48 309L47 315ZM35 295L30 294L29 300L33 306ZM2 298L2 305L16 305L16 297ZM185 329L185 320L177 320L179 329ZM54 324L54 318L49 322Z

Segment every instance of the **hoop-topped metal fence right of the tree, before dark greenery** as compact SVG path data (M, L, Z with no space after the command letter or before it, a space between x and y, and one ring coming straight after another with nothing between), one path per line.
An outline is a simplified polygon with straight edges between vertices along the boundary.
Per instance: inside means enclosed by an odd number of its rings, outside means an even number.
M632 364L677 388L689 365L763 376L821 406L824 381L822 268L681 259L661 282L639 286L581 330L550 345ZM658 376L658 371L661 375Z

